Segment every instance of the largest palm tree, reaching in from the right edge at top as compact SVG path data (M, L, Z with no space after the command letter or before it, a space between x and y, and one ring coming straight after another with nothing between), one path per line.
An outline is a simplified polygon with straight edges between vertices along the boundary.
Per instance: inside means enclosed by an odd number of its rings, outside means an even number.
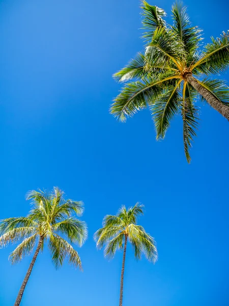
M181 114L187 161L198 126L196 99L207 101L229 120L229 88L213 78L229 64L229 32L200 48L201 30L192 27L182 3L172 7L174 23L165 22L165 12L142 1L142 24L146 32L144 53L138 53L113 77L119 82L133 80L122 88L110 113L125 121L138 110L149 107L157 139L164 138L170 120Z

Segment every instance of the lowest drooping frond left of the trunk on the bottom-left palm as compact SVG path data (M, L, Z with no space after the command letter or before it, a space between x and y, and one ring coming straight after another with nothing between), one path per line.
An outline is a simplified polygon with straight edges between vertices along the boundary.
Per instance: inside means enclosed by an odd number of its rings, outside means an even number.
M34 249L37 239L37 233L31 237L25 238L10 254L9 260L12 264L18 263L23 257L28 256Z

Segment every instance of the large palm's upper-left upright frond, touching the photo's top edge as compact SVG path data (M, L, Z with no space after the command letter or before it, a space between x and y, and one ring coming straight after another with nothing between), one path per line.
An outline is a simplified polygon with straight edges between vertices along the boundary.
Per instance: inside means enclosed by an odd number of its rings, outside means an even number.
M166 16L166 13L163 9L149 5L146 1L142 1L141 9L142 25L143 29L146 30L142 37L146 40L151 40L157 28L165 27L166 23L163 17Z

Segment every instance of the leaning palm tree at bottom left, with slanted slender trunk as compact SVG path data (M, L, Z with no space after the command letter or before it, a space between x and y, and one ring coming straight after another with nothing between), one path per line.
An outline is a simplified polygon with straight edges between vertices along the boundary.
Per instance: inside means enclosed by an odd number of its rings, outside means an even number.
M1 247L10 242L22 241L10 254L9 260L12 264L30 255L38 242L14 306L18 306L21 302L28 278L44 242L48 242L52 262L56 268L62 266L64 259L67 258L70 264L81 269L78 252L71 243L81 246L87 239L88 232L86 223L74 216L82 214L83 202L66 200L64 192L59 188L54 187L50 193L41 190L30 191L27 200L32 200L33 204L33 209L27 217L4 219L0 223ZM62 236L66 236L70 243Z

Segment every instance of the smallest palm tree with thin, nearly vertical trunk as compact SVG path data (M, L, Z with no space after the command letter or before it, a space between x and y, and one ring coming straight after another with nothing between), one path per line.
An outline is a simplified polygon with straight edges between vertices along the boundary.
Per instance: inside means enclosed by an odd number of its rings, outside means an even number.
M123 304L123 278L127 241L129 240L132 244L136 259L140 259L143 252L149 261L153 263L157 261L154 238L147 234L142 226L137 225L137 217L143 214L142 208L143 205L139 203L128 210L125 206L122 206L116 216L106 215L103 218L103 227L94 234L97 247L102 248L105 245L105 257L113 258L118 249L123 249L119 306Z

